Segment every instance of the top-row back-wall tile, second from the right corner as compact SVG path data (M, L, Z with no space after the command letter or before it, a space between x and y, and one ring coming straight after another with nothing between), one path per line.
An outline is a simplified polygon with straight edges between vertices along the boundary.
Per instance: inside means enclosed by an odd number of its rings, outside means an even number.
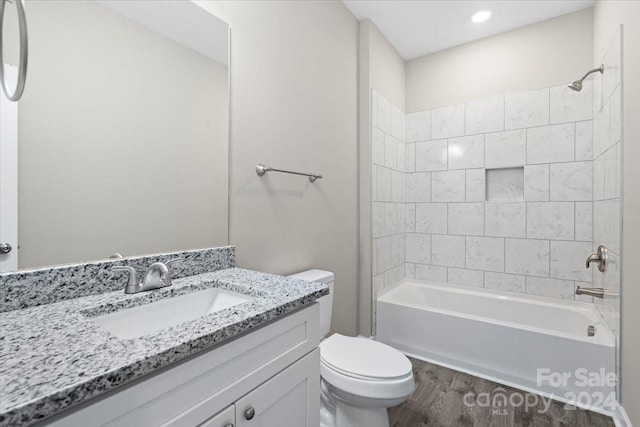
M549 88L507 94L504 103L505 129L549 124Z

